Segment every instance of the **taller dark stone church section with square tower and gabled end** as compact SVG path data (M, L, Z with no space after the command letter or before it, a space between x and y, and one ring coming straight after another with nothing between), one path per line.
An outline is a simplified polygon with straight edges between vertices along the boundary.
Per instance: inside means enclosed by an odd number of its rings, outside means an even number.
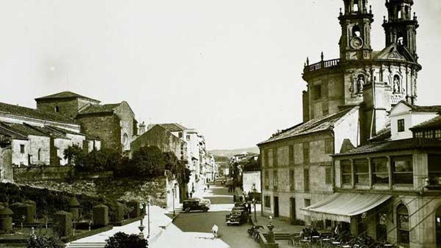
M102 141L102 147L123 154L130 151L130 143L137 135L135 114L125 101L100 104L100 101L65 91L35 99L37 109L59 113L81 124L81 131L91 139Z

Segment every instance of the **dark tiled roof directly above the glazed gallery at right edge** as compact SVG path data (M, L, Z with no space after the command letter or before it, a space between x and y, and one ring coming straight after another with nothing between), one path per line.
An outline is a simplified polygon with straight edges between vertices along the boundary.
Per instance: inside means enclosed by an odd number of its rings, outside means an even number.
M361 155L368 153L401 151L409 149L425 149L425 148L441 148L441 140L439 139L425 139L425 138L410 138L392 141L373 142L366 145L359 146L344 153L335 154L335 157Z

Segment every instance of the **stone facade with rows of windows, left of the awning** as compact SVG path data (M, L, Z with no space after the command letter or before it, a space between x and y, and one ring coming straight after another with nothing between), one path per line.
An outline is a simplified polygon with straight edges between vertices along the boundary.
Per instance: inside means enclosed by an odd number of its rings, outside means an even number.
M301 208L306 204L314 204L333 192L332 189L332 149L326 149L327 140L333 141L330 132L318 132L310 135L293 137L261 146L262 154L268 150L268 164L265 165L265 156L262 159L262 212L264 215L274 214L275 196L279 201L279 216L281 219L305 219ZM333 142L328 141L333 146ZM294 156L289 159L289 147L292 146ZM304 149L309 154L304 157ZM273 156L277 151L277 166ZM282 157L281 157L282 156ZM275 160L275 159L274 159ZM294 189L291 188L290 171L294 171ZM265 188L265 172L269 175L269 187ZM277 187L274 174L277 172ZM308 174L306 174L308 173ZM305 176L309 183L305 183ZM328 178L328 180L326 180ZM306 187L308 186L309 189ZM270 207L265 207L264 198L270 196ZM291 206L291 199L295 201L295 211ZM293 216L295 212L295 216Z

